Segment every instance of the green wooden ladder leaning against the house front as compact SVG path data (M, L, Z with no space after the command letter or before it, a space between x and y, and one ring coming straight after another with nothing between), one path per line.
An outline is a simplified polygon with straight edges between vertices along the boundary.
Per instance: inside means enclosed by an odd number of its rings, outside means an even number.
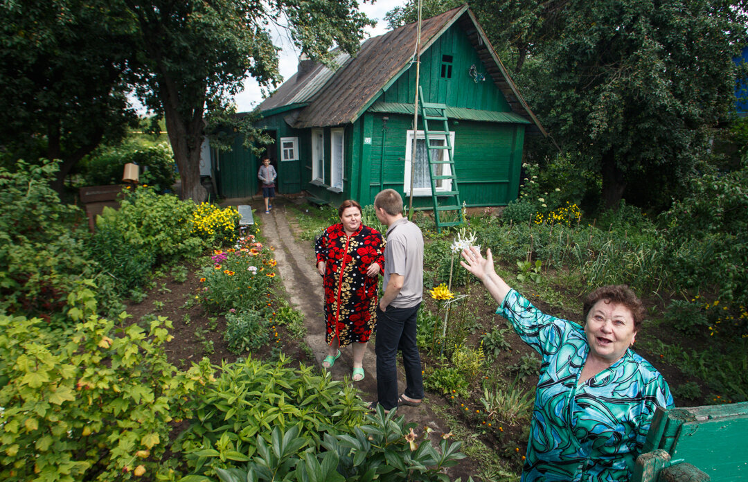
M436 222L436 230L441 233L441 228L447 226L456 226L462 224L462 203L460 203L460 192L457 188L457 176L455 174L455 162L452 156L452 138L450 138L450 127L447 125L447 105L439 103L423 102L423 89L418 86L418 97L421 106L421 119L423 121L423 136L426 141L426 157L429 159L429 177L431 178L431 197L434 204L434 220ZM429 115L426 113L427 109L429 112L437 111L438 115ZM442 129L430 129L429 121L432 123L441 123ZM437 126L435 126L437 127ZM432 146L430 136L433 135L444 135L444 145ZM444 150L445 156L432 156L432 150ZM411 157L415 159L415 153L411 154ZM414 160L415 162L415 160ZM450 174L448 175L435 175L434 169L441 165L448 164L450 166ZM444 198L442 200L443 205L439 205L437 199L436 183L438 180L451 180L452 185L450 191L442 191L438 193L438 197ZM444 222L441 220L441 215L450 211L454 211L456 219L455 221Z

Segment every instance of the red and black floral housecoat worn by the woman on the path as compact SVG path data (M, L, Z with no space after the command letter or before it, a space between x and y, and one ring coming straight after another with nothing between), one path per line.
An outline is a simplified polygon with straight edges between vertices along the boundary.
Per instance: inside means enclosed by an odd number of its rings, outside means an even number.
M384 272L384 238L379 231L361 225L350 237L338 223L325 229L315 244L317 264L325 261L325 321L330 344L340 346L369 341L374 329L379 277L367 276L372 263Z

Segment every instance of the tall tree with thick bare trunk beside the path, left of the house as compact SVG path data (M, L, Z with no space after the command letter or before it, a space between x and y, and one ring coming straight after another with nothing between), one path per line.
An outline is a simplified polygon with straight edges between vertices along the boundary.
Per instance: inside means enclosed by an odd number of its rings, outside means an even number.
M203 118L221 117L252 76L281 81L270 27L281 19L296 46L331 62L333 46L355 52L370 22L356 0L123 0L137 22L132 63L137 94L163 115L180 169L183 199L202 201ZM225 116L223 116L225 118Z

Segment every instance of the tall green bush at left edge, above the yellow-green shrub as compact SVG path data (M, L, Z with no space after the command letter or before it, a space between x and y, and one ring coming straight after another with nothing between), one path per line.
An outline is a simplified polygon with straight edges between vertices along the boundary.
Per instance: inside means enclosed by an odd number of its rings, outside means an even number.
M93 278L85 215L49 188L56 162L0 168L0 309L67 323L65 298Z

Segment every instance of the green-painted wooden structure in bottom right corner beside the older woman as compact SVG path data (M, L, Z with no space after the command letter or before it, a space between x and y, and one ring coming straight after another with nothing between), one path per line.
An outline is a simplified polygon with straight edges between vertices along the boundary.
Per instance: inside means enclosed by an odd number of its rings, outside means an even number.
M748 481L748 402L657 408L632 482Z

